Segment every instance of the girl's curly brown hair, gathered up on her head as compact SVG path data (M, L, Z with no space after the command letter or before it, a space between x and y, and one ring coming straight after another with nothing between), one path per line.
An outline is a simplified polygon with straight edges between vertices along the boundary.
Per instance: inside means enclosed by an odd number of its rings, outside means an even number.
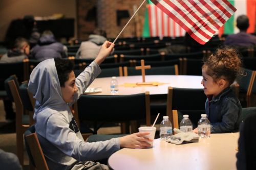
M215 54L203 59L202 68L214 81L225 79L231 85L234 80L243 75L242 61L236 50L218 48Z

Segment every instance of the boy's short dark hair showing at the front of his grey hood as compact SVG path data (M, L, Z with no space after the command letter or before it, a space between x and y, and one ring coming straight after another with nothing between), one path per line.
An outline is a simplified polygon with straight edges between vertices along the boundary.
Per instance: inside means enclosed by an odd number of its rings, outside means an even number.
M69 74L73 70L73 62L67 59L54 58L60 87L65 87L65 82L69 80Z

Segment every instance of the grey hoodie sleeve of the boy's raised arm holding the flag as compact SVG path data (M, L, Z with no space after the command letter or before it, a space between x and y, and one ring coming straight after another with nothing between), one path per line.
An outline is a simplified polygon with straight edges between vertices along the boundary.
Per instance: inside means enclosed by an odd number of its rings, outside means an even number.
M76 86L78 87L75 101L80 95L86 91L86 88L93 82L93 80L100 74L101 69L99 65L93 61L86 69L84 69L79 76L76 78Z

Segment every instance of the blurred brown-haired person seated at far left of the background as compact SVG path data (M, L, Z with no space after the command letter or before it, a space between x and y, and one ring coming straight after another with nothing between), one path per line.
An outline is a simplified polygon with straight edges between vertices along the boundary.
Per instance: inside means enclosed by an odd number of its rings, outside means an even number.
M18 37L14 42L14 47L1 57L0 63L21 62L28 58L29 50L28 40Z

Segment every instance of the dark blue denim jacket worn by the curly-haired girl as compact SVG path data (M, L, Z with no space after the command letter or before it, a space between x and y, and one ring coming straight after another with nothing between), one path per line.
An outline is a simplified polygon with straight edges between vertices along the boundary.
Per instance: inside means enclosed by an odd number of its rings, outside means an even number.
M211 133L226 133L239 130L242 122L242 107L230 87L214 99L207 96L205 112L211 123Z

